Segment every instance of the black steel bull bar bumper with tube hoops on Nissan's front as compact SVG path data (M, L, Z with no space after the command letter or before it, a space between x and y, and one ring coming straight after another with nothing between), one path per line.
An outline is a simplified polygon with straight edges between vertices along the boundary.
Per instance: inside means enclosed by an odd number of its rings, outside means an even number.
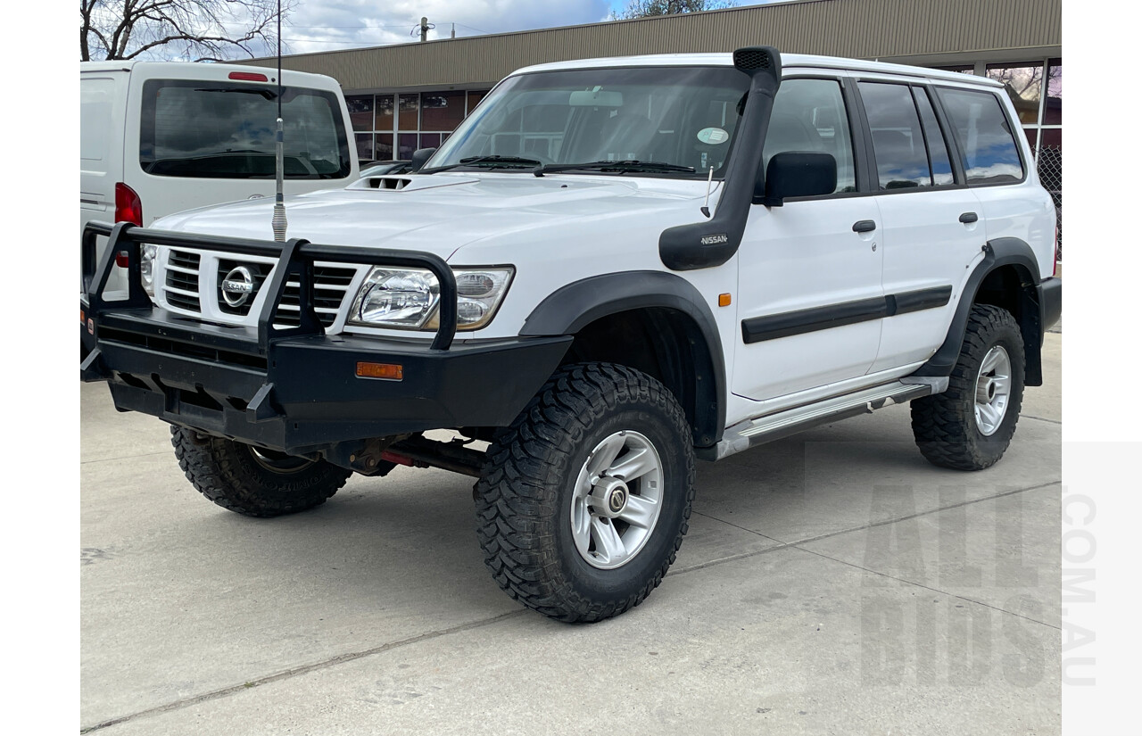
M115 233L111 235L115 238ZM129 259L137 259L139 242L172 237L198 238L198 248L230 250L233 244L142 228L118 235L107 249L111 259L122 250ZM273 282L283 281L288 270L298 270L296 266L304 272L314 258L329 260L331 253L355 262L394 262L386 258L391 252L308 245L268 244L282 254L264 288L274 288ZM451 275L436 257L402 253L399 260L408 262L408 258L423 259L421 265L431 260L434 270ZM104 266L108 262L113 260L105 259ZM335 446L344 451L346 443L428 429L506 426L542 387L572 340L517 338L451 345L455 282L449 290L444 273L437 273L442 301L450 291L453 312L449 318L441 310L443 326L433 347L424 340L327 335L315 318L308 324L303 320L301 327L274 329L270 326L271 302L276 299L266 300L265 321L259 317L257 329L206 324L159 309L145 294L136 298L138 269L134 266L132 260L128 299L107 302L95 297L99 290L93 289L104 283L104 269L85 262L81 379L107 381L120 411L151 414L290 454L328 453ZM403 378L359 378L359 362L399 364Z

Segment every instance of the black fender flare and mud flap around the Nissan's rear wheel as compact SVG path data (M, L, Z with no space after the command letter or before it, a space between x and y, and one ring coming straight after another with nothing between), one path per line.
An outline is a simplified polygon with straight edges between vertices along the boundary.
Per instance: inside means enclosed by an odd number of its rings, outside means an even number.
M956 316L952 317L951 326L948 327L948 335L935 355L928 358L927 363L916 370L912 375L951 375L951 370L959 358L959 349L964 343L964 334L967 332L967 317L972 305L975 304L980 285L988 274L1002 266L1019 267L1024 286L1020 298L1032 302L1024 304L1024 308L1021 309L1020 329L1023 333L1023 349L1027 358L1027 385L1042 385L1043 315L1037 297L1030 296L1030 293L1037 294L1039 291L1039 264L1031 246L1018 237L997 237L983 245L983 260L975 266L964 284L959 302L956 305ZM1034 289L1029 291L1028 285L1034 286Z

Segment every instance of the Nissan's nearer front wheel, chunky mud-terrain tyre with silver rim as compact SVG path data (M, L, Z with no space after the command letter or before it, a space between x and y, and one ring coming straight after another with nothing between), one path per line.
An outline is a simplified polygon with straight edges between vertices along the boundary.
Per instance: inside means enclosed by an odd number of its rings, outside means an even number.
M690 427L644 373L565 366L489 447L475 495L500 588L560 621L602 621L674 563L694 498Z

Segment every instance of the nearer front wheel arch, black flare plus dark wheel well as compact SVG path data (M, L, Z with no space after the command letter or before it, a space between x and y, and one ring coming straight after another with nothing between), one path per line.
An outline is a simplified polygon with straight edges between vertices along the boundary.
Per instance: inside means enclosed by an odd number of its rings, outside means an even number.
M706 301L682 277L627 272L568 284L536 307L520 334L574 335L564 363L597 361L642 371L675 395L695 446L722 438L722 340Z

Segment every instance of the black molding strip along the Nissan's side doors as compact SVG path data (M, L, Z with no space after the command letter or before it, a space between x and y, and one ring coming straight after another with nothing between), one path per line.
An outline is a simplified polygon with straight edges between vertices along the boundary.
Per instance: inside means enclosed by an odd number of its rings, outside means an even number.
M806 332L830 330L899 314L920 312L922 309L936 309L947 305L950 299L951 286L934 286L888 294L887 297L858 299L826 307L751 317L741 321L741 338L747 345L788 338Z

